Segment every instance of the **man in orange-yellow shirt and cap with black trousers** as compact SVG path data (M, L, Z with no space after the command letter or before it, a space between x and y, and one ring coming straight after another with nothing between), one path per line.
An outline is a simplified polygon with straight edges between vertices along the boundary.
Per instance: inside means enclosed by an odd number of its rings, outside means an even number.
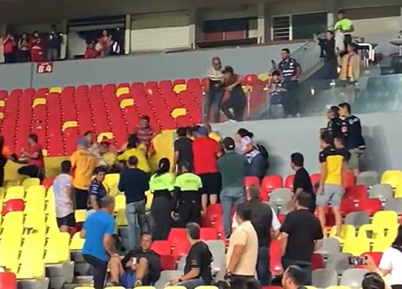
M76 197L76 209L87 209L88 187L98 159L88 150L87 139L78 139L77 150L70 157L73 168L73 192Z

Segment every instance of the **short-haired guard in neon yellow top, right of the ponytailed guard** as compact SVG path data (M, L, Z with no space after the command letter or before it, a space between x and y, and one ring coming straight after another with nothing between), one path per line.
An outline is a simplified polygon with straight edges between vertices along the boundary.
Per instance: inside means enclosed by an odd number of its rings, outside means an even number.
M177 227L185 228L188 222L201 221L200 189L201 178L191 173L190 165L184 163L182 174L175 179L175 191L173 193L173 208L171 216L175 219L178 213Z

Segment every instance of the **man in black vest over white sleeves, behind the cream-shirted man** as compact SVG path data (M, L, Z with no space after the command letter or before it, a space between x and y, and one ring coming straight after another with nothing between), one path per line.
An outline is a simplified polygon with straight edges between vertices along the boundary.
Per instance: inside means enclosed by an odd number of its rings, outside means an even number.
M250 203L251 218L250 221L259 241L258 261L256 271L261 286L270 286L272 274L270 272L270 243L272 238L279 236L281 223L277 214L266 202L261 202L259 186L249 186L246 191L247 202ZM236 215L232 227L237 227ZM270 229L272 228L272 234Z

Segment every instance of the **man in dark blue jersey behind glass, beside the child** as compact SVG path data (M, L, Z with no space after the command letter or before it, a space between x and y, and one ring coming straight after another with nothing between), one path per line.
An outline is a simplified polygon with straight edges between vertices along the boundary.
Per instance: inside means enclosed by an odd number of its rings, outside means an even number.
M288 116L300 116L300 101L297 95L298 80L302 74L302 67L295 58L290 57L289 49L282 49L281 62L279 62L277 69L281 71L283 84L288 91L286 93L284 105Z

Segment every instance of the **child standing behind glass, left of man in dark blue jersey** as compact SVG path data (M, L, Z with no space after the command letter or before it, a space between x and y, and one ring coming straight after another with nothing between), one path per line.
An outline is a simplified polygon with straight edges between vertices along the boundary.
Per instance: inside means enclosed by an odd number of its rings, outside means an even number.
M283 88L281 73L277 70L272 72L272 82L270 85L270 118L281 119L284 117L283 97L286 89Z

